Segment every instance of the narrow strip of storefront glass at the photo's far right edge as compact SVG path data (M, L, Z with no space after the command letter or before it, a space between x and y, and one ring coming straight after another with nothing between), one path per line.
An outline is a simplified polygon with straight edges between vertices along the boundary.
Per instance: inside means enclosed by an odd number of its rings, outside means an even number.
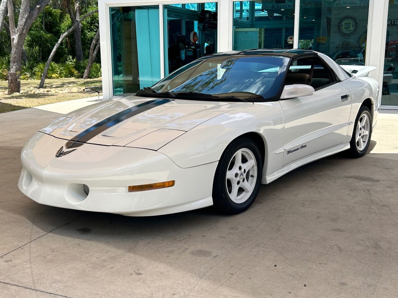
M398 3L388 4L381 104L398 106Z

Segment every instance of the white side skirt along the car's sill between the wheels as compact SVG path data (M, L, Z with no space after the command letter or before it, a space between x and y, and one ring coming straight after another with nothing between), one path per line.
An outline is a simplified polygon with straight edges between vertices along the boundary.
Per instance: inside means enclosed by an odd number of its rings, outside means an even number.
M344 151L349 149L349 142L348 143L343 143L334 147L330 147L328 149L313 153L311 155L308 155L306 157L303 157L302 159L299 159L298 161L295 161L290 164L286 164L283 166L281 169L267 175L263 176L261 179L262 184L268 184L269 182L272 182L273 180L285 175L286 173L290 172L291 170L294 170L295 168L298 168L299 166L302 166L304 164L310 163L312 161L316 161L317 159L324 158L329 155L333 155L335 153L338 153L340 151Z

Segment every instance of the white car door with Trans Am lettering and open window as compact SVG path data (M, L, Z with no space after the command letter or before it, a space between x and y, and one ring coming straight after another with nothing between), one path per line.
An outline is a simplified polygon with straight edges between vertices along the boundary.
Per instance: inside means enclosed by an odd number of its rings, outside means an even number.
M291 74L291 75L289 75ZM315 93L310 96L280 100L284 119L283 166L319 151L349 142L348 121L351 112L349 90L318 57L293 62L286 77L289 85L300 77L309 79ZM297 83L303 83L302 79Z

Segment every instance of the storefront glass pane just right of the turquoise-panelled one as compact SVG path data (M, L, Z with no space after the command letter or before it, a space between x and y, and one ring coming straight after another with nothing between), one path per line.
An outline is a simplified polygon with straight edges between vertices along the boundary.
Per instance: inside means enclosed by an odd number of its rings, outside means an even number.
M217 52L217 3L164 7L164 74Z

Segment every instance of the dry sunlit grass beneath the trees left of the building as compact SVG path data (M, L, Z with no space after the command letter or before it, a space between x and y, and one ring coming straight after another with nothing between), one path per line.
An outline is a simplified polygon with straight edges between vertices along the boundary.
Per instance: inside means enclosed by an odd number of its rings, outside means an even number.
M21 81L21 89L27 87L39 86L40 80ZM75 84L71 87L102 86L102 80L97 79L46 79L44 89L51 88L52 85ZM0 81L0 92L6 92L8 81ZM20 110L22 108L31 108L43 104L59 103L61 101L70 101L86 97L96 97L95 91L101 91L102 87L90 88L92 92L84 93L38 93L38 94L18 94L18 95L0 95L0 113ZM102 93L100 93L102 95Z

